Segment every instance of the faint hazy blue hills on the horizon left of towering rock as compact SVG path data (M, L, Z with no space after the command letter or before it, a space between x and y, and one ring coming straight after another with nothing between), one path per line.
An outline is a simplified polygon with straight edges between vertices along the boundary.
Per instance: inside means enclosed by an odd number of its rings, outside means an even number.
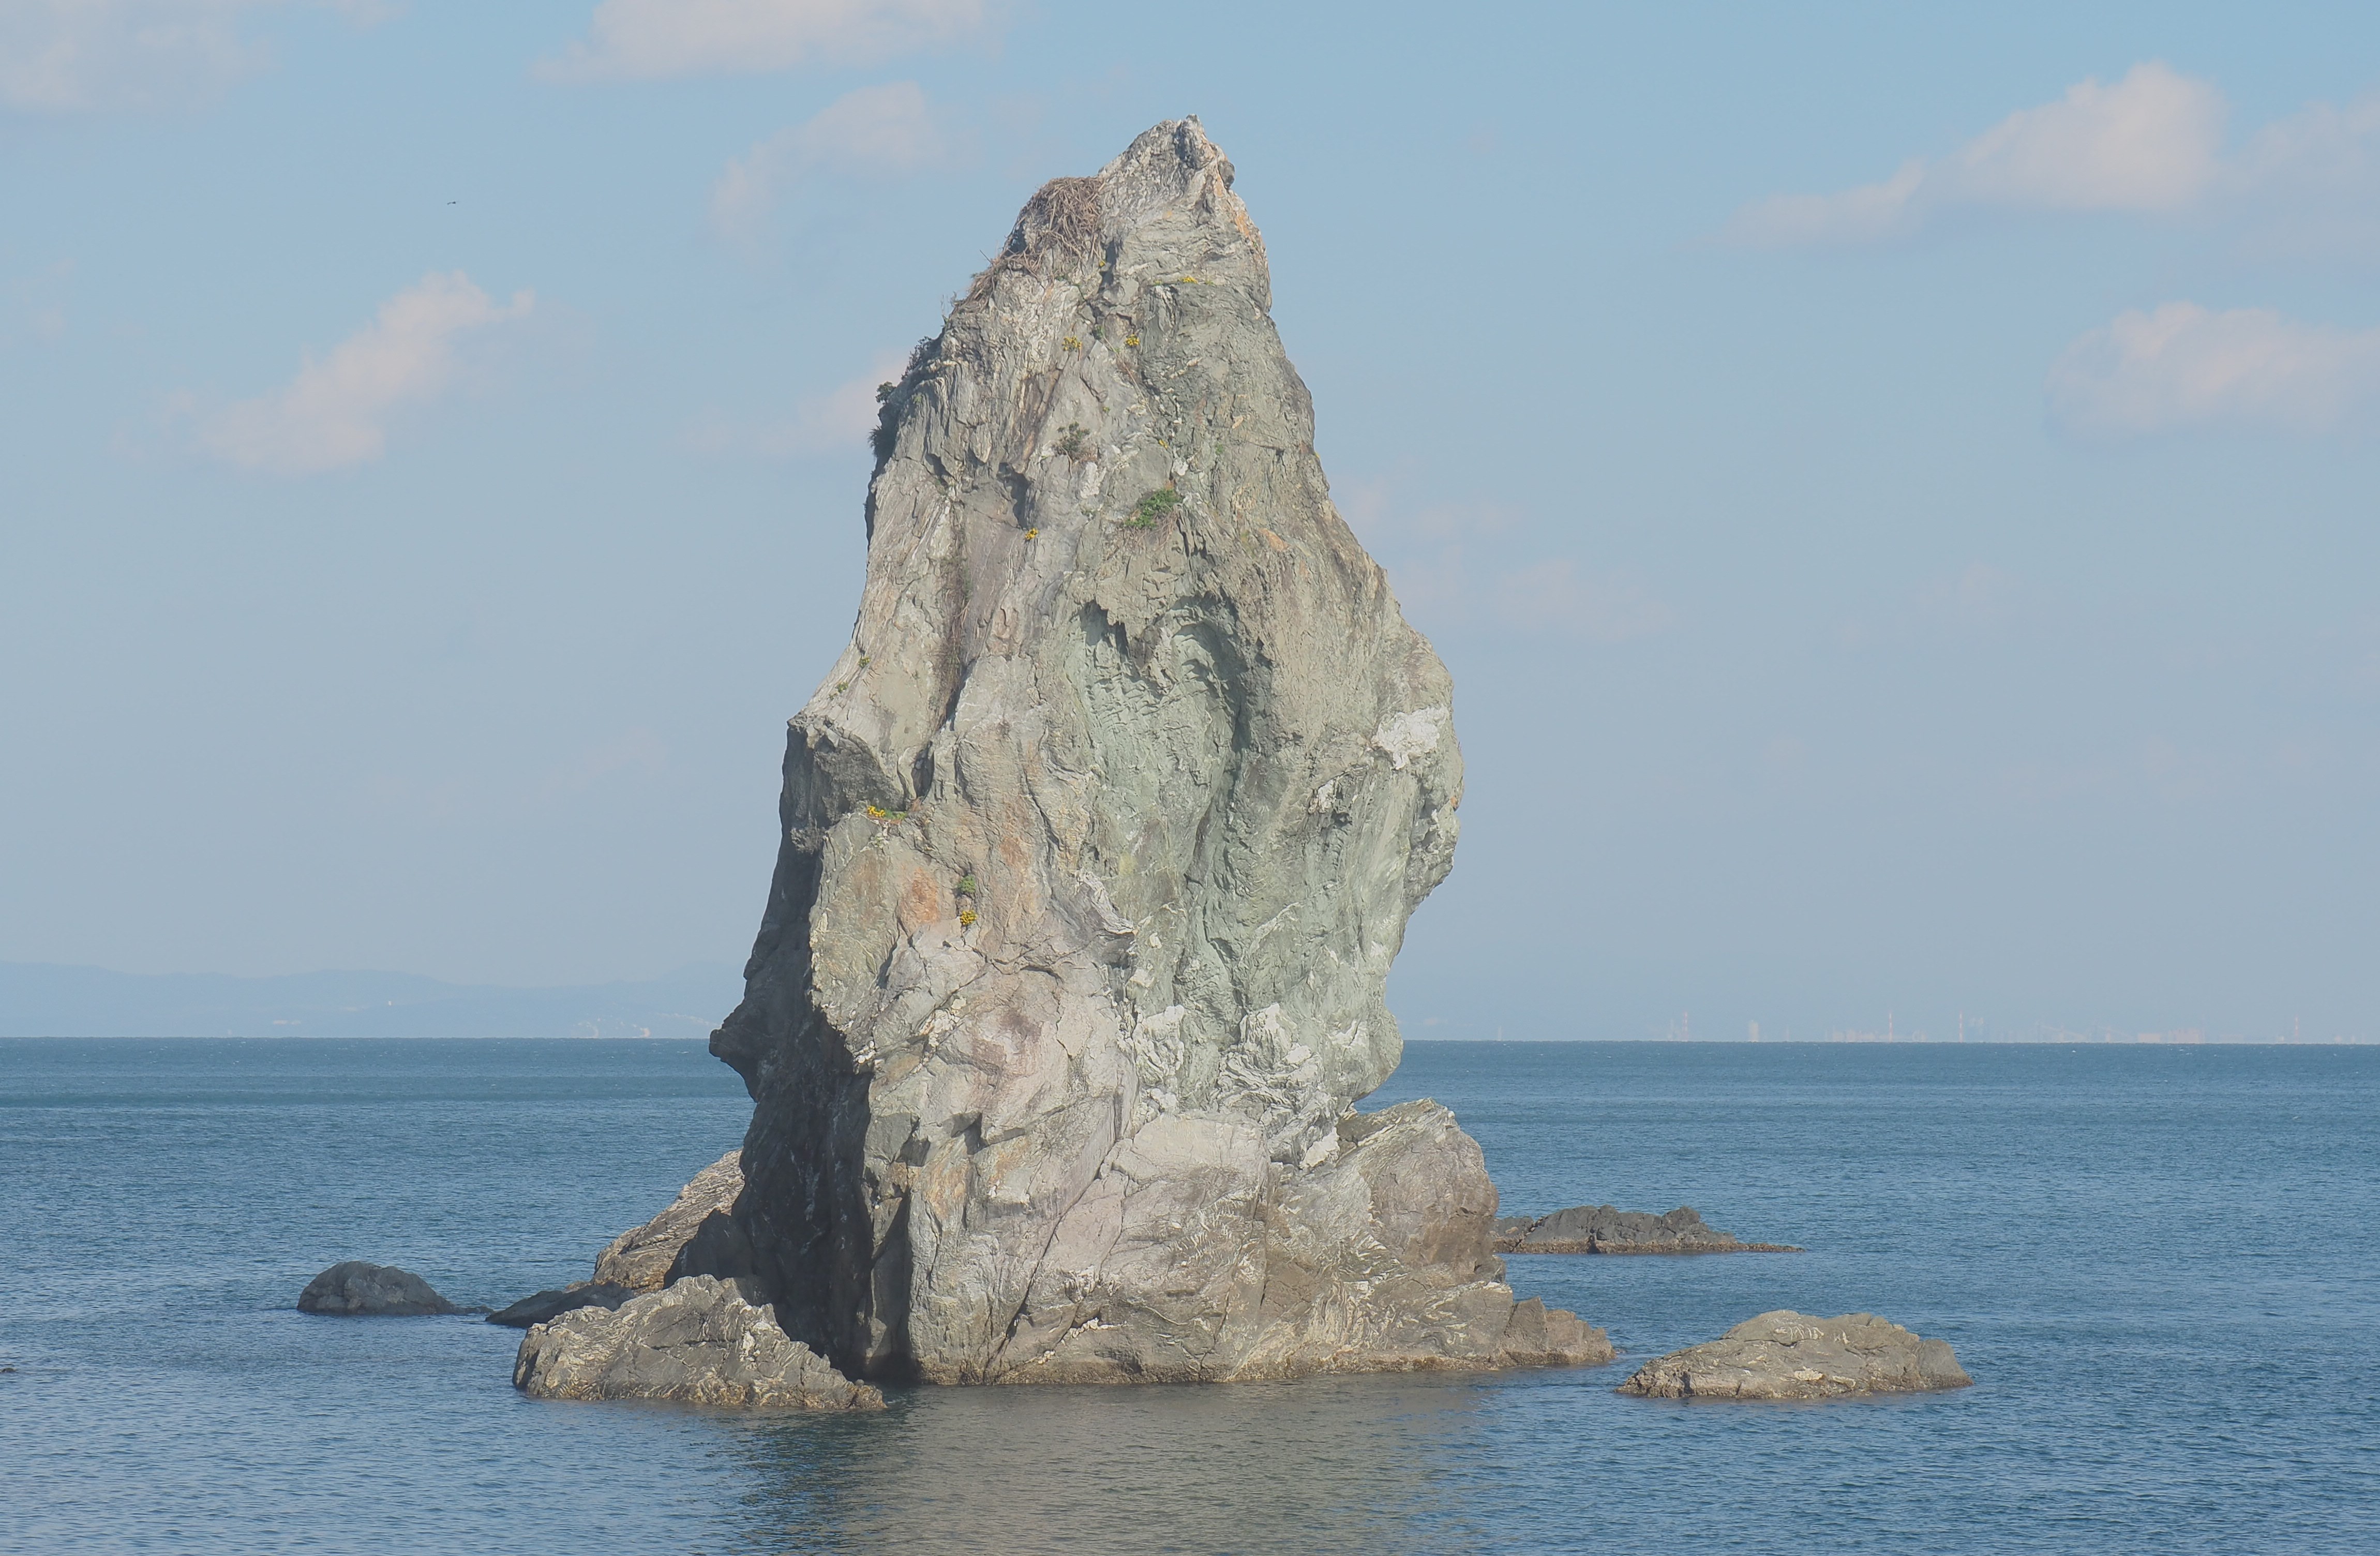
M743 971L516 990L414 973L112 973L0 961L0 1037L709 1037Z

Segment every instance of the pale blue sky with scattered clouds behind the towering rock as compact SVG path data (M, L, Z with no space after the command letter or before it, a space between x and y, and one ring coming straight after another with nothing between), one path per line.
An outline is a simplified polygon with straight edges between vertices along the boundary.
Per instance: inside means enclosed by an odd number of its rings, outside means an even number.
M869 388L1202 114L1414 1035L2380 1037L2380 14L0 0L0 959L738 961Z

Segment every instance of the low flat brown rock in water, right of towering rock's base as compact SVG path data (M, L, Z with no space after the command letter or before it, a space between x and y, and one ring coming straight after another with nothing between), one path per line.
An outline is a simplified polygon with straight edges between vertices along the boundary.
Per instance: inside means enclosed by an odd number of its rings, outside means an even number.
M1949 1342L1918 1339L1875 1313L1761 1313L1709 1344L1647 1361L1621 1385L1645 1399L1844 1399L1964 1389Z

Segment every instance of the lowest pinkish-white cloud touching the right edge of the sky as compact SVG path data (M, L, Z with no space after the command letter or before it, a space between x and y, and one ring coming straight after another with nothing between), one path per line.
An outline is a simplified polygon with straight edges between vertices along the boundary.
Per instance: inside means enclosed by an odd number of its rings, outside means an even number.
M2337 428L2380 400L2380 331L2299 324L2266 307L2130 309L2049 369L2049 412L2097 438L2251 426Z

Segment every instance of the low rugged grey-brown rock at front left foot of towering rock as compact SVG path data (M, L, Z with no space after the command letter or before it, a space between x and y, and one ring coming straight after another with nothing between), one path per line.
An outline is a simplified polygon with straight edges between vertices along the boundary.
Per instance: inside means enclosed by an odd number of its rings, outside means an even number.
M674 1399L747 1411L881 1411L733 1280L695 1275L619 1309L576 1309L521 1337L512 1385L536 1399Z

